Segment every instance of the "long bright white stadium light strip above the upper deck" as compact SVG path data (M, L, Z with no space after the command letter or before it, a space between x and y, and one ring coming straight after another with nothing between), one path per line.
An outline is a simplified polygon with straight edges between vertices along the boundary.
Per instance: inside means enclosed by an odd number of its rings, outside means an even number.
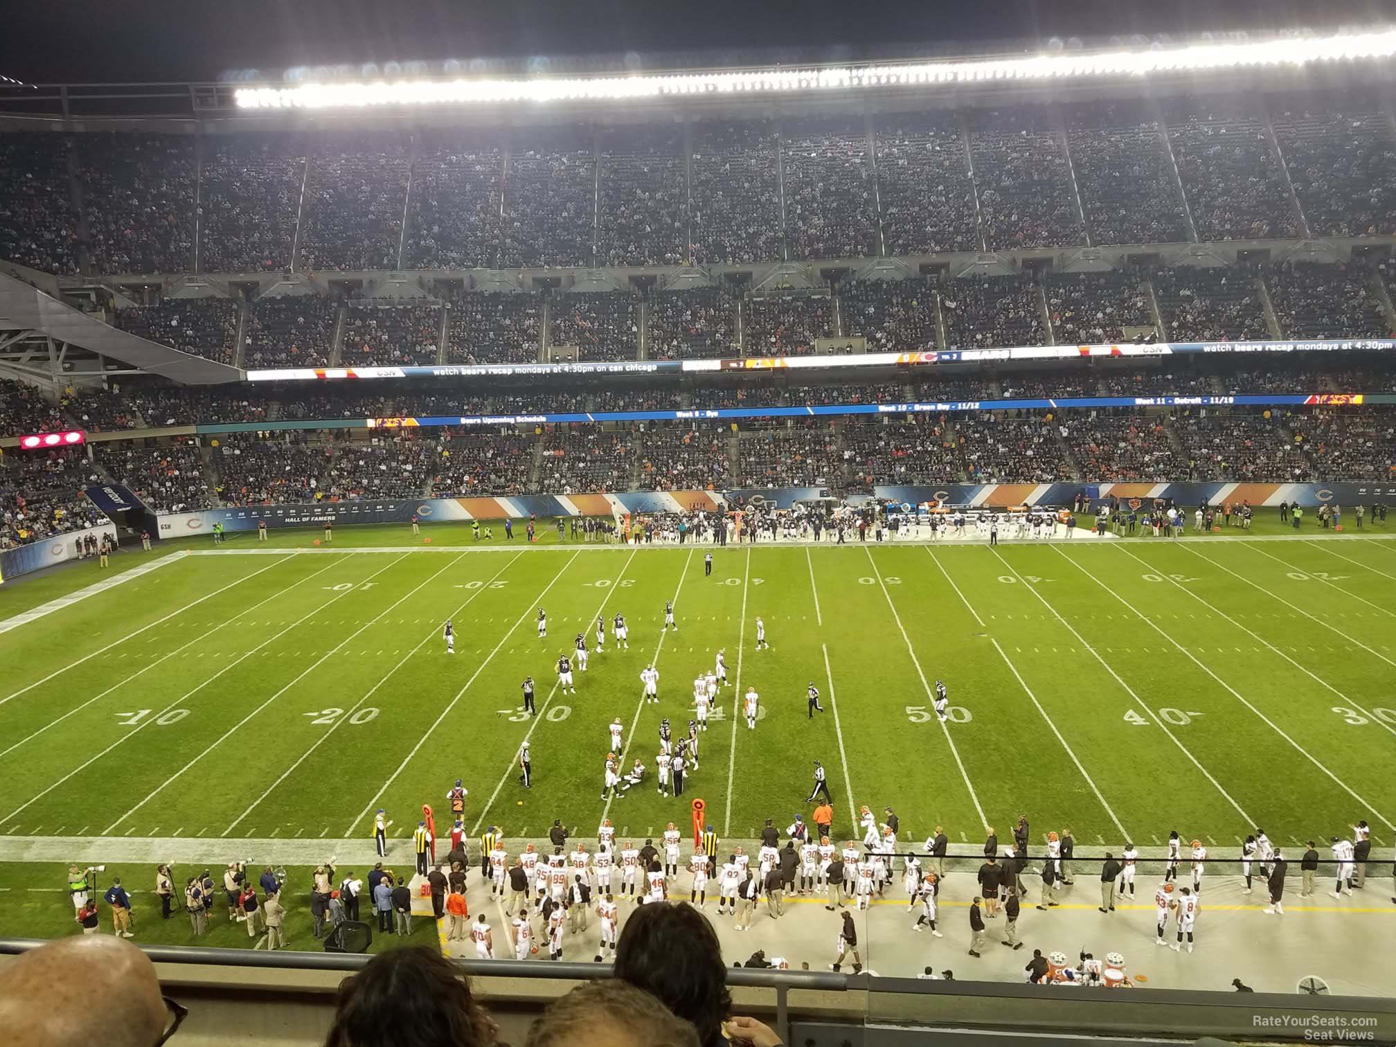
M684 95L775 95L808 91L926 88L972 82L1146 77L1224 68L1302 67L1325 61L1389 59L1396 29L1294 36L1255 43L1037 54L1022 59L846 66L832 68L674 73L625 77L409 80L248 87L235 94L242 109L353 109L367 106L550 103L632 101Z

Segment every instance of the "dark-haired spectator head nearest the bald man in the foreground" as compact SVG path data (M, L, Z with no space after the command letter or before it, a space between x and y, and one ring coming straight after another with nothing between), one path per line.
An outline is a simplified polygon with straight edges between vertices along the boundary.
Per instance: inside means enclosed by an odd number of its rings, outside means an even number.
M392 949L339 983L325 1047L490 1047L497 1026L440 949Z

